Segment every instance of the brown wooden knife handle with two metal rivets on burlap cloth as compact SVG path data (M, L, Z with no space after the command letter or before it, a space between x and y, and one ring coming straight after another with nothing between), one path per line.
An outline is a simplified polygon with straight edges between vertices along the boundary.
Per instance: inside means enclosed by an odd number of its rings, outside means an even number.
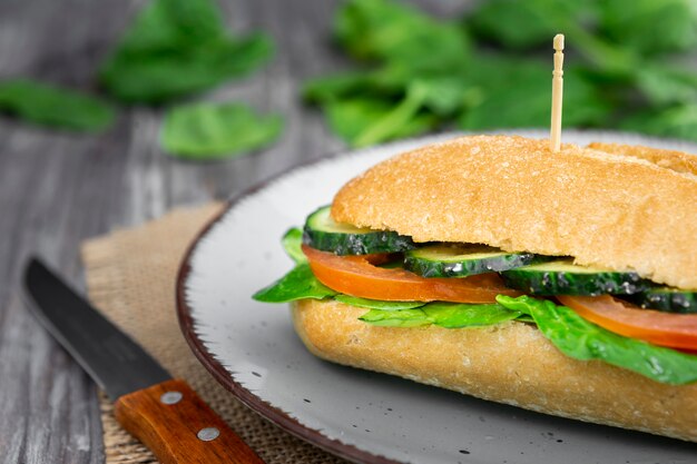
M264 464L184 381L124 395L114 412L163 464Z

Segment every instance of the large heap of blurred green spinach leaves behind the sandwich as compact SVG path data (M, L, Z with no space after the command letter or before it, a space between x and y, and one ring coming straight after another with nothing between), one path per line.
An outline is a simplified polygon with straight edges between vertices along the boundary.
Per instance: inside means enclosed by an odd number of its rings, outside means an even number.
M333 33L357 70L312 79L303 96L353 146L435 128L547 128L558 32L566 127L697 140L689 0L490 0L451 19L353 0Z

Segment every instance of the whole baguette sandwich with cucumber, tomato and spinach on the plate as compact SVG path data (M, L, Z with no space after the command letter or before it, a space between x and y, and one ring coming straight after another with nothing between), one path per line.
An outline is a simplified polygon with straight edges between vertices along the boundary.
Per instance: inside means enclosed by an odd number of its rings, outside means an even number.
M316 356L697 442L697 158L467 136L348 181L254 295Z

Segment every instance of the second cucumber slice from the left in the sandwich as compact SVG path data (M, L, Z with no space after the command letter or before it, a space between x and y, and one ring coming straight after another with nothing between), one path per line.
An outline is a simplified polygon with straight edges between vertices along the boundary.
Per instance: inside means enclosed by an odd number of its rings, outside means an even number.
M553 258L508 253L487 245L436 244L406 251L404 268L422 277L467 277L549 259Z

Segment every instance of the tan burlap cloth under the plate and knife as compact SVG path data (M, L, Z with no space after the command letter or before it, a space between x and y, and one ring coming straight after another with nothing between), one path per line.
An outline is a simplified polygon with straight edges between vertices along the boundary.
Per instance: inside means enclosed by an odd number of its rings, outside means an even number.
M176 209L138 228L87 241L82 259L89 297L173 376L185 378L266 463L342 463L238 402L196 361L179 332L175 313L179 261L192 239L220 208L220 204L210 204ZM104 395L101 407L107 464L157 462L118 425Z

